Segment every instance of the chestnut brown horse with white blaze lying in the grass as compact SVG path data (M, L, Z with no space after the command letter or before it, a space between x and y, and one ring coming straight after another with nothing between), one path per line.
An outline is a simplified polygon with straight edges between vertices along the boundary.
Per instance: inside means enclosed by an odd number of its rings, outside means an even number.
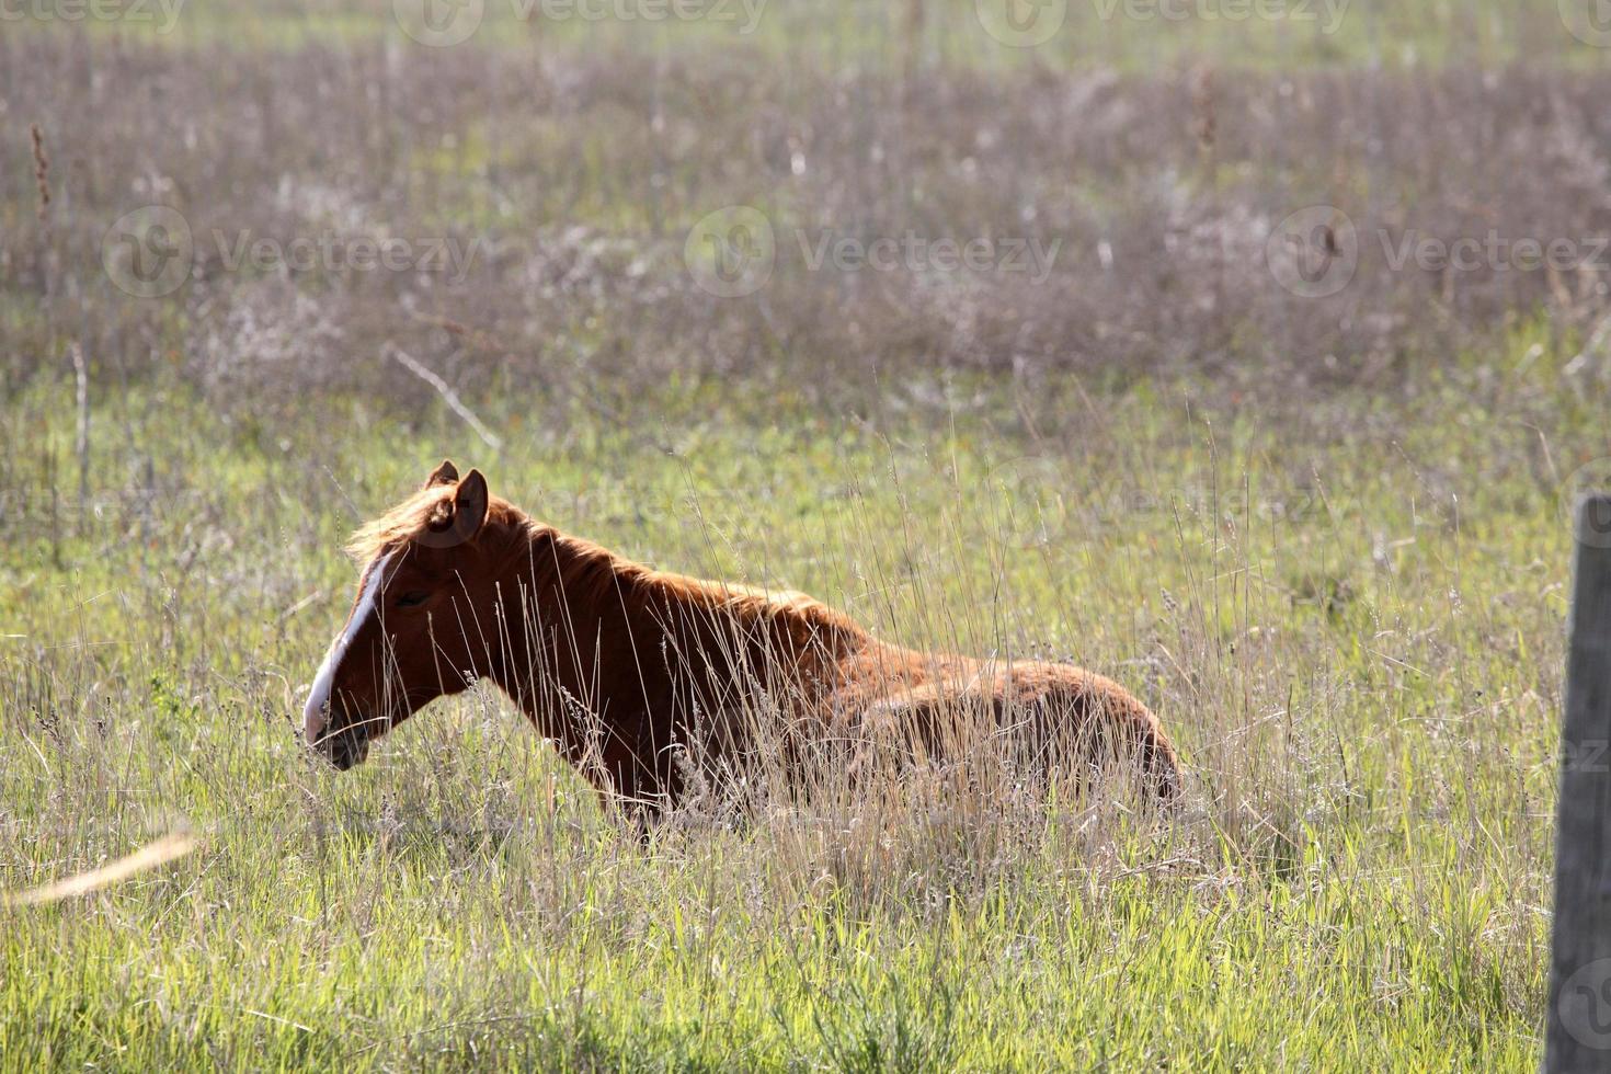
M342 770L432 699L487 680L644 816L715 770L757 754L786 765L810 741L899 728L910 750L941 755L967 712L1042 766L1054 754L1086 773L1123 763L1158 800L1179 794L1174 747L1112 680L920 654L806 594L652 570L528 518L451 462L348 551L367 565L303 712L308 744Z

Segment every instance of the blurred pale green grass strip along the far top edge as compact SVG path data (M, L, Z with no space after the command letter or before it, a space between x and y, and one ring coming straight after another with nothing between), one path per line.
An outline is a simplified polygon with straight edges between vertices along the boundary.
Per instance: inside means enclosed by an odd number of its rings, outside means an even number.
M746 8L741 0L707 0L701 8L690 5L690 10L709 10L710 18L667 18L657 13L672 10L670 5L657 0L487 0L470 42L493 48L580 53L599 48L669 55L759 52L806 68L846 61L902 63L902 56L915 55L926 63L981 71L1042 64L1060 71L1155 72L1203 63L1255 71L1439 69L1518 61L1593 68L1606 61L1605 50L1572 37L1553 6L1540 10L1519 0L1463 5L1392 0L1070 0L1060 16L1055 5L1037 16L1055 23L1033 47L1004 43L986 29L986 24L1000 26L1000 19L989 14L1000 6L1004 3L992 0L926 0L917 5L749 0ZM909 8L921 8L918 23L910 21ZM34 10L27 8L29 13ZM43 5L42 10L53 8ZM137 18L14 19L13 31L82 27L92 34L179 47L296 50L375 40L414 47L400 31L390 0L356 5L345 0L311 5L182 3L172 18L151 5L130 10ZM611 14L617 10L628 13L627 18ZM1025 13L1031 10L1029 5L1023 8ZM527 18L525 11L532 14Z

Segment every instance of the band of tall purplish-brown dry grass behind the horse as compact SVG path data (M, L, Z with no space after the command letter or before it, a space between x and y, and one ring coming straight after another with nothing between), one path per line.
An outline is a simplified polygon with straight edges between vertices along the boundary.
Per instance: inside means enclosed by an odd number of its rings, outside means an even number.
M1419 356L1518 312L1548 312L1566 349L1606 308L1611 256L1593 243L1611 229L1611 129L1593 69L901 74L744 48L369 39L219 43L197 61L93 34L0 48L5 114L50 132L56 187L47 233L23 211L24 127L0 169L13 386L72 338L111 383L177 364L255 407L308 390L427 398L390 346L472 396L717 375L851 401L946 369L1184 372L1278 401L1400 390ZM172 296L130 301L100 242L150 203L185 216L197 264ZM683 246L731 204L767 214L777 266L727 299L698 287ZM1327 298L1289 293L1266 264L1271 229L1315 204L1358 233L1358 271ZM221 253L324 233L483 245L462 279L230 269ZM825 237L909 233L1057 256L1044 280L809 264ZM1572 242L1577 262L1392 264L1408 240L1490 233Z

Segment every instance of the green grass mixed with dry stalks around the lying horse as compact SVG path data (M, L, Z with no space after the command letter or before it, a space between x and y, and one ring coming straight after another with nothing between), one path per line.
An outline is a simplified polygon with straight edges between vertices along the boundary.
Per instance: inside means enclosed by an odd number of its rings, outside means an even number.
M0 911L3 1064L1532 1068L1558 499L1611 449L1530 345L1286 415L1147 383L483 401L498 457L433 409L97 391L84 507L71 388L35 382L0 417L0 889L179 824L201 849ZM656 565L1104 670L1191 803L641 849L493 694L329 771L293 720L340 539L443 456Z

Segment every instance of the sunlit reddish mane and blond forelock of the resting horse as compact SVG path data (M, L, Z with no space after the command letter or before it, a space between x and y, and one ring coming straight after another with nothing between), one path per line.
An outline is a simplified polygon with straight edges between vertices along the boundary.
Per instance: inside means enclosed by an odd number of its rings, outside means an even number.
M419 489L401 504L354 530L346 543L348 556L362 565L383 552L401 547L425 533L438 507L451 499L451 485ZM551 539L554 544L553 559L559 568L557 581L572 599L614 601L625 585L672 604L696 605L710 612L720 610L741 622L759 625L788 620L791 626L797 628L791 633L799 636L855 641L870 638L860 623L849 615L804 593L765 589L733 581L707 581L656 570L601 544L535 522L499 496L488 498L487 522L474 539L485 539L490 531L501 533L509 541L511 554L520 557L546 559L548 552L538 552L535 546L545 538Z

